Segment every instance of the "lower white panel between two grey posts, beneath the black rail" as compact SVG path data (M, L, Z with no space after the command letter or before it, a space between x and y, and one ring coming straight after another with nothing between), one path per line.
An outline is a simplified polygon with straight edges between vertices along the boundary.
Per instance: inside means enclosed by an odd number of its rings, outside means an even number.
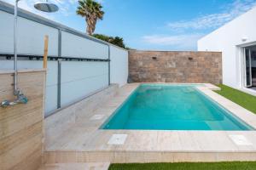
M61 61L61 105L108 87L108 62Z

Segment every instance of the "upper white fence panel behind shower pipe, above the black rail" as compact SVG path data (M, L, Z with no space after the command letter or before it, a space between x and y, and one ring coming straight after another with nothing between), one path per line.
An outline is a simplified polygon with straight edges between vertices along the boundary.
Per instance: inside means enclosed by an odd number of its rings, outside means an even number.
M0 11L0 53L14 53L14 15ZM18 19L19 54L44 54L44 36L49 35L49 55L58 54L58 30L32 20Z

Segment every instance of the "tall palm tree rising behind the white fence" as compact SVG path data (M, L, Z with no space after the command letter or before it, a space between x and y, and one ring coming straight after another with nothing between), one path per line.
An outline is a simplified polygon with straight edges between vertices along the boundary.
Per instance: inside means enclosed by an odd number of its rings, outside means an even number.
M95 0L79 0L77 14L85 17L87 23L86 32L92 35L95 31L97 20L103 19L104 12L102 11L102 5Z

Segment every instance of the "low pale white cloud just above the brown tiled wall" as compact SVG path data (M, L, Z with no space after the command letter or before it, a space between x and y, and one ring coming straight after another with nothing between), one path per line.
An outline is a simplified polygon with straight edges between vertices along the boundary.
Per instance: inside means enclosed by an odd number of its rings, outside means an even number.
M176 48L195 48L197 40L202 36L202 34L197 33L177 36L153 35L144 36L143 42L161 46L175 46Z

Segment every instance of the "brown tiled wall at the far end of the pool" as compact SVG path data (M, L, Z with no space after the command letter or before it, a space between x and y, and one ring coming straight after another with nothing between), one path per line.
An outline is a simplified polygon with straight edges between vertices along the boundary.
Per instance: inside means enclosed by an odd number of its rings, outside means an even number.
M129 51L130 82L222 82L218 52Z

